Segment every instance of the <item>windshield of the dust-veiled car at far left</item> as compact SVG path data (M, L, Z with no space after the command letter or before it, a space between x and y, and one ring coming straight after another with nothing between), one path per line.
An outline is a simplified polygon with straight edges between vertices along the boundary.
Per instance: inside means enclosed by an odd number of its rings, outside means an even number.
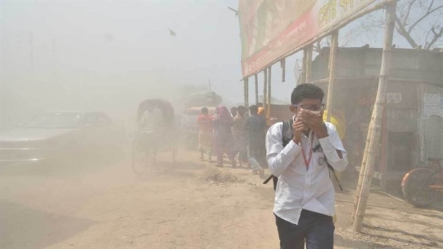
M24 128L72 129L80 124L80 113L44 113L26 122Z

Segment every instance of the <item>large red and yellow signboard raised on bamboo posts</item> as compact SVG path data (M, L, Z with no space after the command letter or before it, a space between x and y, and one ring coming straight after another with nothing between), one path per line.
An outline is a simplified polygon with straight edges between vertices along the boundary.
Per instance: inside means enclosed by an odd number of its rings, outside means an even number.
M242 72L247 77L375 0L239 0Z

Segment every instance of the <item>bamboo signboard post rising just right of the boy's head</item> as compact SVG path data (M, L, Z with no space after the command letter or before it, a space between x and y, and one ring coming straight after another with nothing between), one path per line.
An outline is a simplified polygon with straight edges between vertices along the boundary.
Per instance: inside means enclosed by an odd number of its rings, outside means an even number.
M330 122L332 108L334 108L334 103L332 99L334 98L334 84L335 84L335 69L337 60L337 47L338 47L338 31L332 33L332 44L329 50L329 84L327 85L327 116L326 121Z

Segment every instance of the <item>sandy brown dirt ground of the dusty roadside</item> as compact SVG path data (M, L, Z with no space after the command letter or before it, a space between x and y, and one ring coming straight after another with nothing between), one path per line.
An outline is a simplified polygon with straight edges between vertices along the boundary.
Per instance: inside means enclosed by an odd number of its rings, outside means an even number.
M76 167L1 167L0 248L278 248L272 185L215 168L195 151L143 176L128 157ZM374 190L362 233L350 230L354 181L336 194L335 248L443 248L440 208Z

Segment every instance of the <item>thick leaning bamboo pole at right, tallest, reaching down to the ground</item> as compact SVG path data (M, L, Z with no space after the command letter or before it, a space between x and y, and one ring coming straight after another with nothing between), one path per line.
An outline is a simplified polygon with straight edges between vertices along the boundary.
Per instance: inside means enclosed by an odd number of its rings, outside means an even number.
M383 55L381 57L379 87L377 89L377 98L375 99L374 110L372 111L372 122L374 122L374 124L371 127L372 131L368 131L368 134L370 133L368 161L363 174L361 191L360 193L357 193L358 199L356 203L354 223L352 224L352 229L356 232L360 232L361 226L363 225L372 180L372 173L374 165L377 161L377 152L381 133L381 119L383 116L383 107L386 102L386 86L389 80L392 59L392 38L394 36L396 5L397 1L389 1L386 8L385 40L383 45Z

